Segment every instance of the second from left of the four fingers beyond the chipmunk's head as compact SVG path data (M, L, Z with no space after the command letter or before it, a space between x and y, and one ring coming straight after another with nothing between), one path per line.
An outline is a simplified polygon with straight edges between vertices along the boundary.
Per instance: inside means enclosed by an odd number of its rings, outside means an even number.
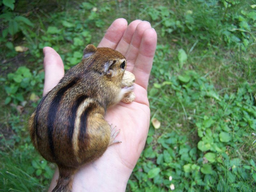
M121 40L119 41L118 45L116 46L116 51L119 51L123 55L126 54L129 45L132 41L132 36L137 28L137 25L142 22L141 20L134 20L132 21L127 29L124 31L124 35L122 36Z

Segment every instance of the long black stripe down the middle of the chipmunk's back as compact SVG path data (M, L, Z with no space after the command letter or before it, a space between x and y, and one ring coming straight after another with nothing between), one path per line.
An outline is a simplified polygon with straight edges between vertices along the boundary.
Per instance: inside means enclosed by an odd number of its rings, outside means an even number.
M49 108L49 112L48 112L48 118L47 118L47 127L48 127L48 138L49 138L49 146L52 152L52 156L55 157L55 153L54 153L54 145L53 145L53 139L52 139L52 132L53 132L53 124L55 121L55 117L56 117L56 113L61 101L62 96L64 95L64 93L71 88L72 86L74 86L78 81L78 78L73 79L73 81L71 81L69 84L67 84L66 86L62 87L55 95L55 97L52 100L52 103L50 105Z

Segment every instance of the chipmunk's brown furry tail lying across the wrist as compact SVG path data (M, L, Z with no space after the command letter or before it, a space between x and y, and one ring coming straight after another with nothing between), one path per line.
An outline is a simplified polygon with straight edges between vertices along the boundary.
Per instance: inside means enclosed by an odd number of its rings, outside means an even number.
M59 179L52 192L71 192L72 180L76 173L75 168L59 166Z

